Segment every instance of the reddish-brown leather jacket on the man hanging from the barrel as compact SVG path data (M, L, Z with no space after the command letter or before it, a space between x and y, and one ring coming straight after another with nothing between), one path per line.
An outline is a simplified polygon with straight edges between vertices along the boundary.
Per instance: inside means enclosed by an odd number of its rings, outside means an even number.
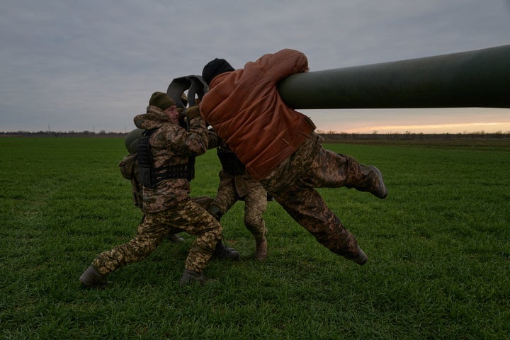
M278 81L308 70L307 57L280 50L248 62L244 69L212 79L200 113L260 181L290 157L315 129L307 116L287 106Z

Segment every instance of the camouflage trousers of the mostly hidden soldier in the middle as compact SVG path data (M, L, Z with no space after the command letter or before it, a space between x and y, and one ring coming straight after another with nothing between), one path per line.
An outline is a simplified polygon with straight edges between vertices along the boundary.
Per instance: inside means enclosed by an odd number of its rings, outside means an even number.
M255 180L251 179L251 181ZM255 239L266 237L267 228L262 217L267 209L266 190L258 183L245 196L240 197L235 187L234 177L232 177L232 181L222 181L220 183L213 204L220 208L223 215L238 200L244 200L244 225L246 229L251 232Z

